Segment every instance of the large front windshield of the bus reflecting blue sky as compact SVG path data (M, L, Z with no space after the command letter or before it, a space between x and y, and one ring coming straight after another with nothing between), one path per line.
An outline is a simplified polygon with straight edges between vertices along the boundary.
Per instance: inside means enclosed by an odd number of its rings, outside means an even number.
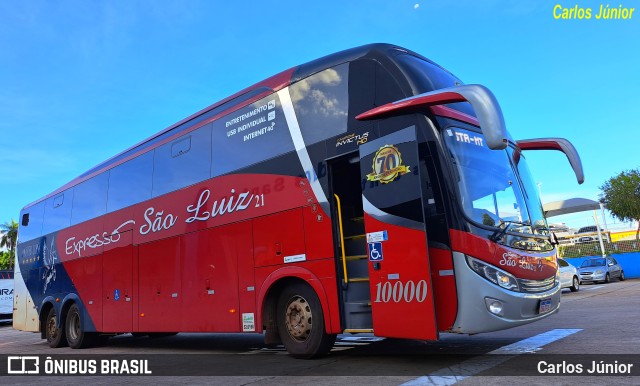
M461 128L446 129L444 137L467 217L504 232L548 235L540 199L519 151L490 150L482 134Z

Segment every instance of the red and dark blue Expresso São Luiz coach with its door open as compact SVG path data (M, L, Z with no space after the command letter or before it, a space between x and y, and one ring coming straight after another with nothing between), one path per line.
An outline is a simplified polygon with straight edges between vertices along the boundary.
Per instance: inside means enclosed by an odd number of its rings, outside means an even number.
M14 327L51 347L262 333L437 340L558 310L555 247L493 94L407 49L300 65L88 170L20 214Z

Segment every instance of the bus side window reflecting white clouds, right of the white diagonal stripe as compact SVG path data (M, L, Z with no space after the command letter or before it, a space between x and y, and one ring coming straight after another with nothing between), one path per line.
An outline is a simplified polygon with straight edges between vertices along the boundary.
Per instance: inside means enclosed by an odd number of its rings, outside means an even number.
M300 130L307 145L347 131L349 65L313 74L289 87Z

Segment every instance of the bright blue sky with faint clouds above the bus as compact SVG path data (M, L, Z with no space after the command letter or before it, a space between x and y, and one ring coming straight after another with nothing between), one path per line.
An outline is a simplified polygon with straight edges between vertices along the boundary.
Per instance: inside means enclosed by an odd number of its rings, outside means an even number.
M0 2L0 222L242 88L372 42L405 46L489 87L516 139L573 142L580 186L561 153L527 155L543 202L597 199L608 178L640 166L640 11L631 20L556 20L557 1L306 3ZM600 5L559 4L594 13ZM591 215L550 222L579 227Z

